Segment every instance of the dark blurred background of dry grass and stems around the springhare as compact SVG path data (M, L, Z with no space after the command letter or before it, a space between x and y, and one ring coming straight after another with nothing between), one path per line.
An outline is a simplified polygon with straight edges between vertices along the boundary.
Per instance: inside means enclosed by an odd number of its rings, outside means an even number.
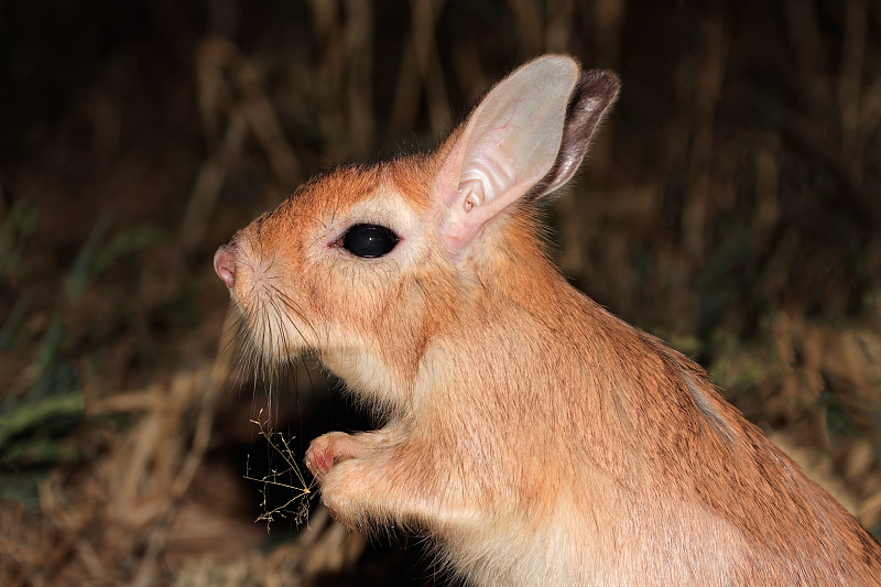
M0 583L443 583L307 492L308 441L373 423L309 361L236 368L211 256L543 52L623 81L558 263L880 535L880 32L879 0L0 2Z

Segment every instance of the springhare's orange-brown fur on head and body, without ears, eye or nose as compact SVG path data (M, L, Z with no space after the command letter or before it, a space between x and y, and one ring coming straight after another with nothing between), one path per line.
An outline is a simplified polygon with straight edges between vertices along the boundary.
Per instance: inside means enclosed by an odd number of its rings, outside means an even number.
M387 421L311 448L335 517L422 533L474 585L881 584L878 543L698 366L567 284L533 203L448 253L432 192L459 132L314 180L233 239L252 344L313 350ZM400 256L346 257L352 218L392 225Z

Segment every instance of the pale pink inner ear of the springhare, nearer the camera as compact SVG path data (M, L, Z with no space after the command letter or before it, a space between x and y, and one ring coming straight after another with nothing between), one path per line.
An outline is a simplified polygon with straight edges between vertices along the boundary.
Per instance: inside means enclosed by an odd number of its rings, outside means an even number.
M578 76L569 57L527 63L501 80L468 119L448 152L435 194L440 237L459 251L491 218L551 170Z

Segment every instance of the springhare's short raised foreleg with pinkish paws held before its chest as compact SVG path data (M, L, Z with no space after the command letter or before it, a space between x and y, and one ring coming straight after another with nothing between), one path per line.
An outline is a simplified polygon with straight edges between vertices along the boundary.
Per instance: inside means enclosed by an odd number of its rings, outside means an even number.
M319 436L306 452L306 466L322 486L322 502L349 529L436 528L466 503L449 470L438 479L436 454L390 426Z

